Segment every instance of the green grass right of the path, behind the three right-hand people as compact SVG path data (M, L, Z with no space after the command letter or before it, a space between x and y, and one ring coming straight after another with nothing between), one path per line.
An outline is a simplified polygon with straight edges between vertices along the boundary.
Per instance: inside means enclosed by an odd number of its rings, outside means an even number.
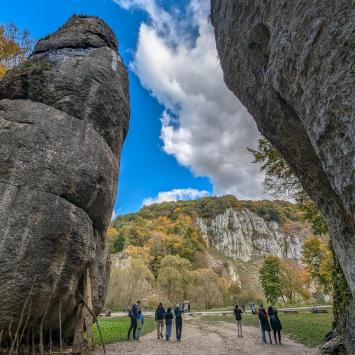
M302 344L316 347L324 342L324 336L331 330L332 313L298 313L280 314L282 322L282 334L289 336ZM226 316L202 316L202 320L215 322L227 321L234 322L232 315ZM243 324L259 327L259 320L256 316L245 315Z

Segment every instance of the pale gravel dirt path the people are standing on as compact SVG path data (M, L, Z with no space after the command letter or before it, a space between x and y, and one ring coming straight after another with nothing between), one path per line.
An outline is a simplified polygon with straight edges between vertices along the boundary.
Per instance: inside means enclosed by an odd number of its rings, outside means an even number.
M175 329L173 329L174 334ZM184 322L182 341L169 342L156 339L156 332L149 333L139 342L122 342L107 346L107 354L130 355L315 355L317 349L310 349L302 344L283 337L284 345L261 344L259 330L244 327L244 337L238 338L233 323L217 322L212 325L201 321ZM95 355L103 352L98 350Z

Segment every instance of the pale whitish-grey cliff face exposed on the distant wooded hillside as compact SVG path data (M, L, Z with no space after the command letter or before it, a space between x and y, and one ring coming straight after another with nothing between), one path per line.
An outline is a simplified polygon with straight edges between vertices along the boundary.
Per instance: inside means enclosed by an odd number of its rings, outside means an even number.
M305 226L286 232L277 222L267 222L248 209L230 208L213 219L198 218L196 223L209 246L244 262L265 255L300 260L302 242L310 235Z

